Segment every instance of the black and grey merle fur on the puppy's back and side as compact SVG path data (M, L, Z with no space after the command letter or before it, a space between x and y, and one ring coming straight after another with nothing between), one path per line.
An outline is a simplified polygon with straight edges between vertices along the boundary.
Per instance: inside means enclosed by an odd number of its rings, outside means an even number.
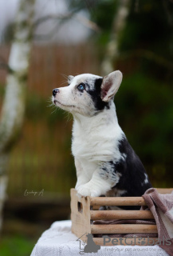
M122 155L120 160L104 162L101 166L100 176L117 181L112 190L124 191L121 194L122 197L140 197L147 189L151 188L146 170L125 136L119 142L119 150ZM138 210L140 206L122 206L121 208Z

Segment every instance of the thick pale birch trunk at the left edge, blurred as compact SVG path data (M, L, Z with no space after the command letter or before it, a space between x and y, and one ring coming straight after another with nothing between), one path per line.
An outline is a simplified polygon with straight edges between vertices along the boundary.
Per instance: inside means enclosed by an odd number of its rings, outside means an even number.
M14 41L10 50L10 71L6 78L6 93L0 119L0 230L2 227L2 206L6 198L7 163L10 150L18 140L25 112L34 2L35 0L19 1Z

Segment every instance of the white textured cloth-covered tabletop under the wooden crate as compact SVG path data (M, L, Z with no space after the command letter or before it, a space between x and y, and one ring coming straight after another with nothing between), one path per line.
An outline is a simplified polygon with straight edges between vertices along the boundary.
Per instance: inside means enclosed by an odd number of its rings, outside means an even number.
M38 239L30 256L169 256L159 246L101 246L97 253L84 253L85 244L71 232L71 221L54 222Z

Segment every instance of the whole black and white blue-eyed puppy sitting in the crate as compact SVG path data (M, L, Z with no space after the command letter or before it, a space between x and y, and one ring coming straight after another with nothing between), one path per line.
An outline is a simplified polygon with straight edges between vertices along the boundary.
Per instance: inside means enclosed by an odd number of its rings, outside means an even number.
M53 103L73 114L75 188L82 196L141 196L151 187L116 117L113 99L121 81L119 70L104 78L80 74L53 90Z

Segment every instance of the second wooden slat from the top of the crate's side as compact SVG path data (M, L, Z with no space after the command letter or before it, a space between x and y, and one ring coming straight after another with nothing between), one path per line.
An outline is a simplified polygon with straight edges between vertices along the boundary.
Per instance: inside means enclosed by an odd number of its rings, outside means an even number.
M153 219L150 210L90 210L91 219Z

